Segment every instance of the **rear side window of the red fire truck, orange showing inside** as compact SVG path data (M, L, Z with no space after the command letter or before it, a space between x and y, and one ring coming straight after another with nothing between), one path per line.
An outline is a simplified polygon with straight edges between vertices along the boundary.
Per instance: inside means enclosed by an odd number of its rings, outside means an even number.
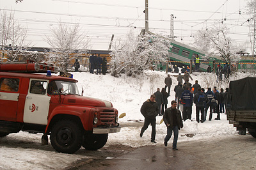
M1 91L18 91L19 90L19 79L5 78L0 79L0 90Z

